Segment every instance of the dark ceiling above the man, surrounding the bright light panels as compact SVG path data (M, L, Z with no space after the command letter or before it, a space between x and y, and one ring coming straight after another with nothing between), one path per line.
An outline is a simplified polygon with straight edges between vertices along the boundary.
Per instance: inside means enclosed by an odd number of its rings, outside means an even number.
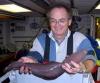
M31 13L18 13L13 15L31 16L31 15L45 14L47 7L49 7L49 5L52 3L64 2L71 5L71 1L74 2L74 6L78 9L79 14L86 14L89 13L89 11L91 13L100 14L100 10L92 9L98 1L100 2L100 0L0 0L0 4L16 3L19 6L29 8L32 10ZM0 13L2 13L1 10Z

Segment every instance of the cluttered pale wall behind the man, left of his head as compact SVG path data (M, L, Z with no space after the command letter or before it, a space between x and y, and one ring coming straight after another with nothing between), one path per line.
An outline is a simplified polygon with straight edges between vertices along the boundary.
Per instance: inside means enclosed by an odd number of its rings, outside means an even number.
M9 42L16 45L17 49L22 48L23 44L28 41L33 41L34 37L37 33L40 33L42 29L47 28L46 24L44 23L44 17L27 17L25 20L17 20L17 21L9 21L4 22L3 26L3 36L4 36L4 45L9 44ZM12 27L11 23L14 23L15 26ZM31 23L37 23L38 27L30 27ZM16 30L16 27L20 26L24 27L25 30ZM14 29L14 32L11 29ZM34 29L35 28L35 29ZM8 42L9 41L9 42ZM31 42L32 43L32 42Z

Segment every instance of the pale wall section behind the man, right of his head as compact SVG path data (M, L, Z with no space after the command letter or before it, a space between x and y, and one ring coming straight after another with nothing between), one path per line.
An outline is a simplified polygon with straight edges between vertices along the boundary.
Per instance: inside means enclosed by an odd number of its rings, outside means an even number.
M94 16L93 15L80 15L82 18L81 22L78 22L78 29L77 31L82 32L83 34L88 34L88 30L90 29L89 35L95 36L93 32L95 32L95 23L94 23Z

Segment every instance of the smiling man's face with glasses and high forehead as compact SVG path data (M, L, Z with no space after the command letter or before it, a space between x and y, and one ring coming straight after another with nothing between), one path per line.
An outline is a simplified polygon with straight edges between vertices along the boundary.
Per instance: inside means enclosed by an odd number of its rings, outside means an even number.
M63 36L71 24L69 14L64 8L54 8L50 12L50 27L55 36Z

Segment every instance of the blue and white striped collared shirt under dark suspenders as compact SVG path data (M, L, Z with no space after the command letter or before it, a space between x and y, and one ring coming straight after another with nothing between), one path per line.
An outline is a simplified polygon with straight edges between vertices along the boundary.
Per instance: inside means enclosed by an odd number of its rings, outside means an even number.
M62 62L67 56L67 41L70 36L71 31L68 30L67 36L65 36L64 40L59 45L55 40L52 31L49 33L50 37L50 61ZM37 51L40 55L44 56L44 48L45 48L45 34L39 35L33 42L33 47L30 51ZM80 51L82 49L87 49L88 51L93 51L90 41L87 37L79 32L75 32L73 34L73 53ZM96 60L95 56L89 54L84 60L91 59L93 61Z

